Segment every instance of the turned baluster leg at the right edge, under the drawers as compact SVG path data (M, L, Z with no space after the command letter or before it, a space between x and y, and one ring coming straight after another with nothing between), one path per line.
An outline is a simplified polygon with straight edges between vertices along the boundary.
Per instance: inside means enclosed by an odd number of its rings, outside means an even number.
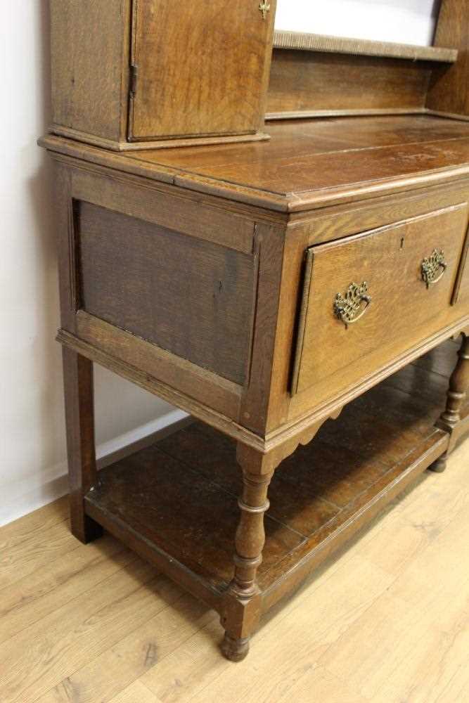
M437 423L438 427L446 430L450 434L449 448L430 470L441 473L446 469L446 461L451 450L454 449L458 439L458 426L461 423L461 410L463 409L466 394L469 387L469 337L463 335L461 349L458 352L458 363L449 380L448 397L446 409L442 413Z

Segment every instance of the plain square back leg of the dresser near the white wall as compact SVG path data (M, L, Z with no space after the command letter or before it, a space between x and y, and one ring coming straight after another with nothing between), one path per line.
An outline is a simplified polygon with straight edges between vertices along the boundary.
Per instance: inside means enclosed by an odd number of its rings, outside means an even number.
M65 420L67 425L70 522L83 543L101 536L102 528L84 513L84 495L96 484L93 363L63 349Z

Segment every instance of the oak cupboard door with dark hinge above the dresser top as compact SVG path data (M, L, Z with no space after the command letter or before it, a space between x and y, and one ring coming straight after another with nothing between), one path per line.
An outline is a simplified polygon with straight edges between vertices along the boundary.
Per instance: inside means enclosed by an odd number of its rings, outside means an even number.
M255 133L276 0L134 0L129 139Z

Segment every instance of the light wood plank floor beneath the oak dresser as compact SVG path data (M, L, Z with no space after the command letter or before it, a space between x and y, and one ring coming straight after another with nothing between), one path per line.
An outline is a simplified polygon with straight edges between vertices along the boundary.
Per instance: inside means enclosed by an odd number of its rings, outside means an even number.
M65 500L0 529L0 701L469 701L469 440L288 601L231 664L213 612Z

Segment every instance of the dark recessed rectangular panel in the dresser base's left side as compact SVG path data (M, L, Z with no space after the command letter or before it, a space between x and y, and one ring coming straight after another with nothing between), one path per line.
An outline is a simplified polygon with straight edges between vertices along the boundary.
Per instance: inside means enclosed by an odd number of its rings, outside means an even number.
M77 239L84 311L243 383L252 256L87 202Z

